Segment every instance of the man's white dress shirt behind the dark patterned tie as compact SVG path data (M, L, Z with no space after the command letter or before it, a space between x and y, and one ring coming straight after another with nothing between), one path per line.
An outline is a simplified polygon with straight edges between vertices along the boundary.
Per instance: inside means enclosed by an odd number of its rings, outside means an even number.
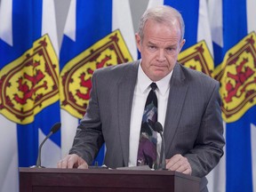
M140 60L141 63L141 60ZM172 72L168 76L156 82L156 97L157 97L157 121L164 127L164 120L167 108L167 101L170 90L170 80ZM144 73L141 66L138 70L138 78L135 84L133 100L132 100L132 114L130 125L130 142L129 142L129 166L137 166L137 155L140 140L140 126L142 116L145 108L145 103L150 92L150 84L152 81ZM161 136L157 133L157 161L159 161L161 150Z

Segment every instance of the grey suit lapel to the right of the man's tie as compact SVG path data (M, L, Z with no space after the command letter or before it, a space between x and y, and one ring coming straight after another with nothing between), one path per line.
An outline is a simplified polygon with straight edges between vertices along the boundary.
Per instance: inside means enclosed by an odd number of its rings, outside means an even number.
M188 84L185 84L184 80L185 76L180 68L180 64L176 64L173 69L164 123L164 139L165 146L167 147L165 152L169 151L172 146L172 140L178 128L184 100L188 91Z

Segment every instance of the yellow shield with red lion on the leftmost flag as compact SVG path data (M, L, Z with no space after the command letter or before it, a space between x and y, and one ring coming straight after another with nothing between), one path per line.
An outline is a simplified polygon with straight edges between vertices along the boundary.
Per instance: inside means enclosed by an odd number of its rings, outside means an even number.
M59 100L59 61L44 35L0 72L0 112L17 124L29 124L43 108Z

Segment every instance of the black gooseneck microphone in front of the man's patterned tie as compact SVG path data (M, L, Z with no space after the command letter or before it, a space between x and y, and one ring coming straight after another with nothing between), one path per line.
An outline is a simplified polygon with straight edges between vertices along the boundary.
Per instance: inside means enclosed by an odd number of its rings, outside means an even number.
M165 142L164 142L164 135L163 135L163 126L159 122L156 122L156 124L153 126L153 129L155 132L159 132L161 138L162 138L162 145L161 145L161 152L160 152L160 160L159 160L159 169L165 170L166 169L166 163L165 163Z

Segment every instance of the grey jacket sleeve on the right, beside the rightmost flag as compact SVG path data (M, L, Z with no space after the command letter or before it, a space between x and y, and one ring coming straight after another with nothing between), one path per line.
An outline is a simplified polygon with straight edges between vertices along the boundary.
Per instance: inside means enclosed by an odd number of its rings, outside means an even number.
M219 83L210 92L208 104L200 124L195 146L185 156L192 167L192 175L204 177L223 156L223 121L220 109Z

